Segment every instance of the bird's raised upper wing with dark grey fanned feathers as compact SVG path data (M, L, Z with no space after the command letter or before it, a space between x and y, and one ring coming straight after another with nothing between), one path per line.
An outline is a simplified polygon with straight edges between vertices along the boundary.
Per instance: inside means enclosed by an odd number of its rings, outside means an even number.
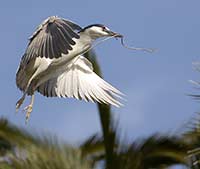
M30 37L22 62L28 63L35 57L53 59L61 57L62 53L67 54L75 45L73 38L80 38L76 30L81 29L77 24L57 16L47 18Z

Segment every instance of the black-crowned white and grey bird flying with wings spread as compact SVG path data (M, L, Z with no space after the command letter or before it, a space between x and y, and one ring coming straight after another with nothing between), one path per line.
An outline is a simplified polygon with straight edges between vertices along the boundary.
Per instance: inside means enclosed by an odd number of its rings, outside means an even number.
M17 73L16 85L23 92L16 111L26 96L31 101L24 108L26 121L33 110L35 92L46 97L68 97L120 107L118 89L98 76L84 57L99 38L121 37L103 24L84 28L58 16L45 19L29 38Z

